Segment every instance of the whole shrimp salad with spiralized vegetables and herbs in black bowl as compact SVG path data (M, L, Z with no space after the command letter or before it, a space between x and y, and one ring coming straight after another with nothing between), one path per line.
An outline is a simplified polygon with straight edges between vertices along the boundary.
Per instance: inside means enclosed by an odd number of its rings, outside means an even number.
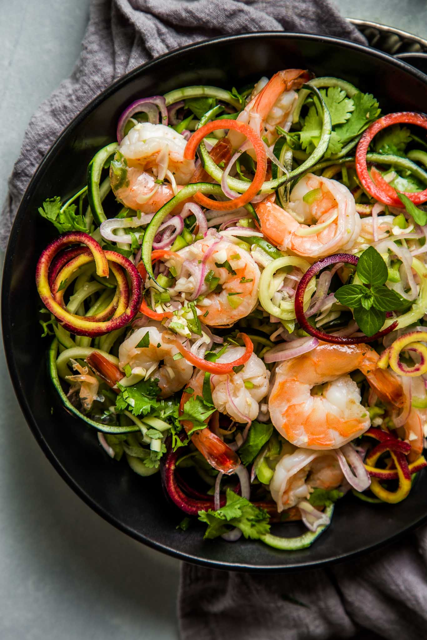
M302 69L188 86L129 105L87 184L40 207L52 383L111 464L158 474L177 528L296 550L344 496L407 498L427 465L423 129Z

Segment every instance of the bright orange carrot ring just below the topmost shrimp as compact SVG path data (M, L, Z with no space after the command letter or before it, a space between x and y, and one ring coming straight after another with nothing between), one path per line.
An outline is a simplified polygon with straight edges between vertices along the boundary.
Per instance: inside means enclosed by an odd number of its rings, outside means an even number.
M194 160L196 149L203 138L213 131L218 131L218 129L234 129L234 131L239 131L252 143L252 147L254 147L257 156L257 170L254 175L254 180L252 180L245 193L242 193L233 200L218 202L217 200L207 198L202 193L197 193L194 199L198 204L202 205L202 207L207 207L208 209L214 209L215 211L234 211L234 209L239 209L239 207L248 204L248 202L257 195L259 189L261 189L267 172L267 154L261 138L249 125L239 122L239 120L213 120L203 127L200 127L200 129L197 129L191 138L189 138L184 150L184 158L186 160Z

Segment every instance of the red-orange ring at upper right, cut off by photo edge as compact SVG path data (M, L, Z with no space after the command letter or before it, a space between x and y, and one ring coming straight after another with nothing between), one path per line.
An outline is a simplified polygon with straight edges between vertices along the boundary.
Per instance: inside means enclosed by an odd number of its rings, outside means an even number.
M399 111L398 113L389 113L373 122L373 124L367 127L357 145L356 170L360 182L369 195L384 204L393 207L403 207L404 205L401 200L399 200L396 190L383 179L375 167L371 169L371 175L369 175L366 163L367 149L371 140L378 132L394 124L414 124L423 127L423 129L427 129L427 116L421 113L414 113L414 111ZM427 200L427 189L424 189L424 191L415 191L415 193L405 192L405 196L412 200L414 204L422 204Z

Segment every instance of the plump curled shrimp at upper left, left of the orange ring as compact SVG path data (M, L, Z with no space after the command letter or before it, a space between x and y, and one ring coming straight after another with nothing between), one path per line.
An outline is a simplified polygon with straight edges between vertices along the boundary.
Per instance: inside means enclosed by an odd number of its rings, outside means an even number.
M158 211L195 172L194 161L184 159L186 144L184 136L163 124L136 124L110 166L111 188L118 200L144 213ZM166 177L171 184L163 182Z

